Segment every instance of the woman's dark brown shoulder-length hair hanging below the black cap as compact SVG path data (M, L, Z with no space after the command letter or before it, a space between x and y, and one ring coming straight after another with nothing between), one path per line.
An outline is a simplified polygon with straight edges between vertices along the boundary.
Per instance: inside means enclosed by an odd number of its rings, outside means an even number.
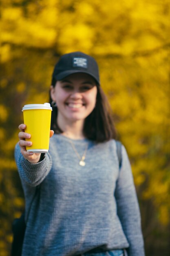
M55 87L56 80L52 80L52 86ZM51 94L49 95L51 104ZM51 129L55 133L62 133L57 124L57 107L52 107ZM96 142L104 142L116 138L116 130L113 124L113 117L108 99L102 88L97 85L96 106L88 117L86 117L83 128L84 136Z

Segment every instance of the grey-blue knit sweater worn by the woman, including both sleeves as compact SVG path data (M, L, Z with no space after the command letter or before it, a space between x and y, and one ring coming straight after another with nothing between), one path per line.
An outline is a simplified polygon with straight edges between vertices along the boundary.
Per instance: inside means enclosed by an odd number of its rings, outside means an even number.
M31 164L15 147L15 160L26 202L22 256L73 256L95 247L128 248L144 256L139 206L128 156L122 166L115 140L96 144L53 135L44 159ZM30 207L31 205L31 207Z

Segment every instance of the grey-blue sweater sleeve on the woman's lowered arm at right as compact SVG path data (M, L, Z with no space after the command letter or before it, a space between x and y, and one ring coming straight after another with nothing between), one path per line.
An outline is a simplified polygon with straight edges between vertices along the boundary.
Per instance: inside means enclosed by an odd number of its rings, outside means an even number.
M119 171L115 198L117 214L129 243L128 256L144 256L141 216L132 171L126 149L122 145L122 164Z

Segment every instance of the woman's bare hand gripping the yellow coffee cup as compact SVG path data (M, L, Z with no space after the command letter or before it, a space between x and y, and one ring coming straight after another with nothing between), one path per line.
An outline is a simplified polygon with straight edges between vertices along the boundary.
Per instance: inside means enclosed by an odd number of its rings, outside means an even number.
M25 139L30 139L31 135L29 133L26 133L24 130L26 128L25 124L20 124L19 127L20 132L18 133L18 137L20 141L18 142L21 153L23 157L28 160L30 163L35 164L40 161L41 153L33 153L33 152L27 152L26 151L26 146L31 146L32 142L31 141L26 141ZM53 130L50 130L50 137L52 137L54 134Z

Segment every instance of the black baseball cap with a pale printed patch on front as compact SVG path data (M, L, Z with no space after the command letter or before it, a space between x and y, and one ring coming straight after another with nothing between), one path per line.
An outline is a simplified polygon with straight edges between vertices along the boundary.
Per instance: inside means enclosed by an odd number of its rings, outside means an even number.
M100 84L97 62L93 57L83 52L71 52L62 55L54 67L52 76L53 79L60 81L75 73L89 74L97 81L98 85Z

